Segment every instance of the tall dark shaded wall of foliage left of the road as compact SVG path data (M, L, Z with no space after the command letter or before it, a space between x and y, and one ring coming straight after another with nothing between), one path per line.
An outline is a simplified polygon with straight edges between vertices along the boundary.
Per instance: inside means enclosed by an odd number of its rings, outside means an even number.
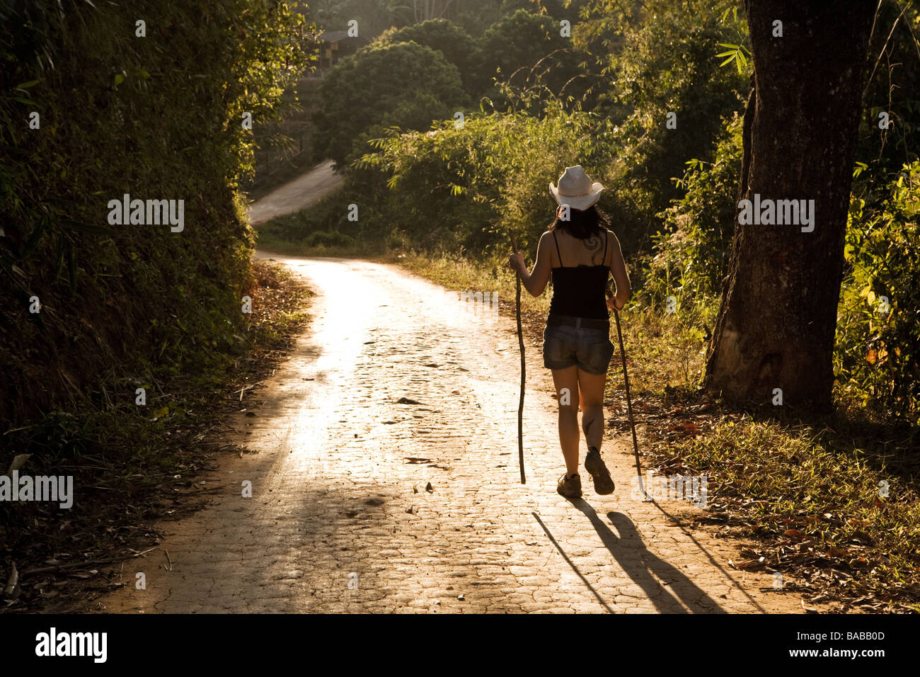
M303 70L302 18L259 0L4 11L0 419L81 399L110 368L223 364L238 349L252 246L238 193L252 158L241 114L273 115ZM109 200L124 193L184 200L184 231L110 226Z

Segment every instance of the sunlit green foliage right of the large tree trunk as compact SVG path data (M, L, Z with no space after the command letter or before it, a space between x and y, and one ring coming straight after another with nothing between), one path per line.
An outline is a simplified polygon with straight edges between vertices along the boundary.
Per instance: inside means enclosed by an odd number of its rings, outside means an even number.
M869 44L845 275L837 314L837 394L879 417L920 418L920 7L883 0ZM891 64L890 66L885 64ZM880 126L884 112L890 124ZM880 297L890 309L881 312Z

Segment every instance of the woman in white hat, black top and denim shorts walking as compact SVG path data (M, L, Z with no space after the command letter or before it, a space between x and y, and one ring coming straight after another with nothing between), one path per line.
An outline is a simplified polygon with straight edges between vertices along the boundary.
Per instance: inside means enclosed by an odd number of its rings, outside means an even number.
M608 229L594 204L604 186L592 182L581 165L567 167L549 191L559 208L536 250L534 269L527 273L523 254L512 254L509 265L534 297L546 289L550 276L553 298L543 333L543 365L553 372L559 405L559 444L566 472L557 491L581 496L578 412L588 446L584 461L594 491L614 492L614 481L601 458L604 438L604 380L614 344L610 341L609 308L620 310L629 298L629 276L619 240ZM568 205L568 219L566 206ZM604 298L610 274L616 294Z

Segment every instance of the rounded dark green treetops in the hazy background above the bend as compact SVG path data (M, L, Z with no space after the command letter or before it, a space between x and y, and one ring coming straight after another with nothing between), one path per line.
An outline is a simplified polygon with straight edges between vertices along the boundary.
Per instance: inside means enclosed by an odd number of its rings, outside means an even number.
M323 82L314 116L316 150L341 167L388 128L424 131L432 121L453 119L469 101L505 111L526 100L537 114L554 94L582 99L587 56L559 35L556 19L524 9L500 18L478 39L445 19L387 29L343 58ZM497 74L500 82L493 85ZM502 80L512 76L514 88L530 94L510 96Z

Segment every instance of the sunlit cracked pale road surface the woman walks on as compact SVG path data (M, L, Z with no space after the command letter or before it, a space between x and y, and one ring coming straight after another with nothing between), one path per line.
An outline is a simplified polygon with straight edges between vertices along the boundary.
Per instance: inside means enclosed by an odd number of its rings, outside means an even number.
M587 476L584 499L558 496L534 344L520 484L513 319L395 266L272 256L316 297L288 361L229 421L258 453L219 462L210 505L159 526L167 538L124 564L107 611L801 611L769 574L732 570L733 543L672 519L696 508L632 496L628 438L604 442L612 496Z

